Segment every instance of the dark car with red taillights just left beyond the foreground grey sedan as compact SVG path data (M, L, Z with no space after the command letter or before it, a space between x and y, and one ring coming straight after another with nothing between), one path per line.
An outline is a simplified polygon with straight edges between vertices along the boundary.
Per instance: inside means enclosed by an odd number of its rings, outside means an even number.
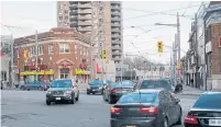
M118 102L118 100L125 93L133 91L133 84L132 83L110 83L106 85L103 90L103 100L108 101L109 104L114 104Z

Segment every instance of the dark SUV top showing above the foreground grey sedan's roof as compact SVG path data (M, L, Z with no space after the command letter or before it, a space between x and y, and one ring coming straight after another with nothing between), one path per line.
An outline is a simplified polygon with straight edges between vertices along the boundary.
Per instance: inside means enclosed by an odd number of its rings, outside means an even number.
M144 80L140 89L164 89L173 92L174 88L166 80Z

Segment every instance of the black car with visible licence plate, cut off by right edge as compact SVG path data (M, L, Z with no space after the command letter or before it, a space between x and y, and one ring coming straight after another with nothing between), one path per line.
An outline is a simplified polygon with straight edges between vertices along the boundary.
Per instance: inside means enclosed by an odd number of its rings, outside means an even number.
M185 127L221 127L221 92L203 93L185 117Z

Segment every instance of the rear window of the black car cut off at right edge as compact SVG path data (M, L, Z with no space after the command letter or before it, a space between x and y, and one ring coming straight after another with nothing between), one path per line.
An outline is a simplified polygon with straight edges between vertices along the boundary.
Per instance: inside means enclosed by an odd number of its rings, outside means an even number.
M195 103L195 108L219 108L221 109L221 93L202 94Z

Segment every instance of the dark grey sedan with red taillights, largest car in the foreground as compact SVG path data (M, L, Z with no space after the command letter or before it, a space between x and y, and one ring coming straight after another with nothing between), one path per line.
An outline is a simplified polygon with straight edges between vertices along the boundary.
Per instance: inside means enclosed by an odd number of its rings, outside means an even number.
M165 90L124 94L110 109L111 127L169 127L181 125L180 100Z

